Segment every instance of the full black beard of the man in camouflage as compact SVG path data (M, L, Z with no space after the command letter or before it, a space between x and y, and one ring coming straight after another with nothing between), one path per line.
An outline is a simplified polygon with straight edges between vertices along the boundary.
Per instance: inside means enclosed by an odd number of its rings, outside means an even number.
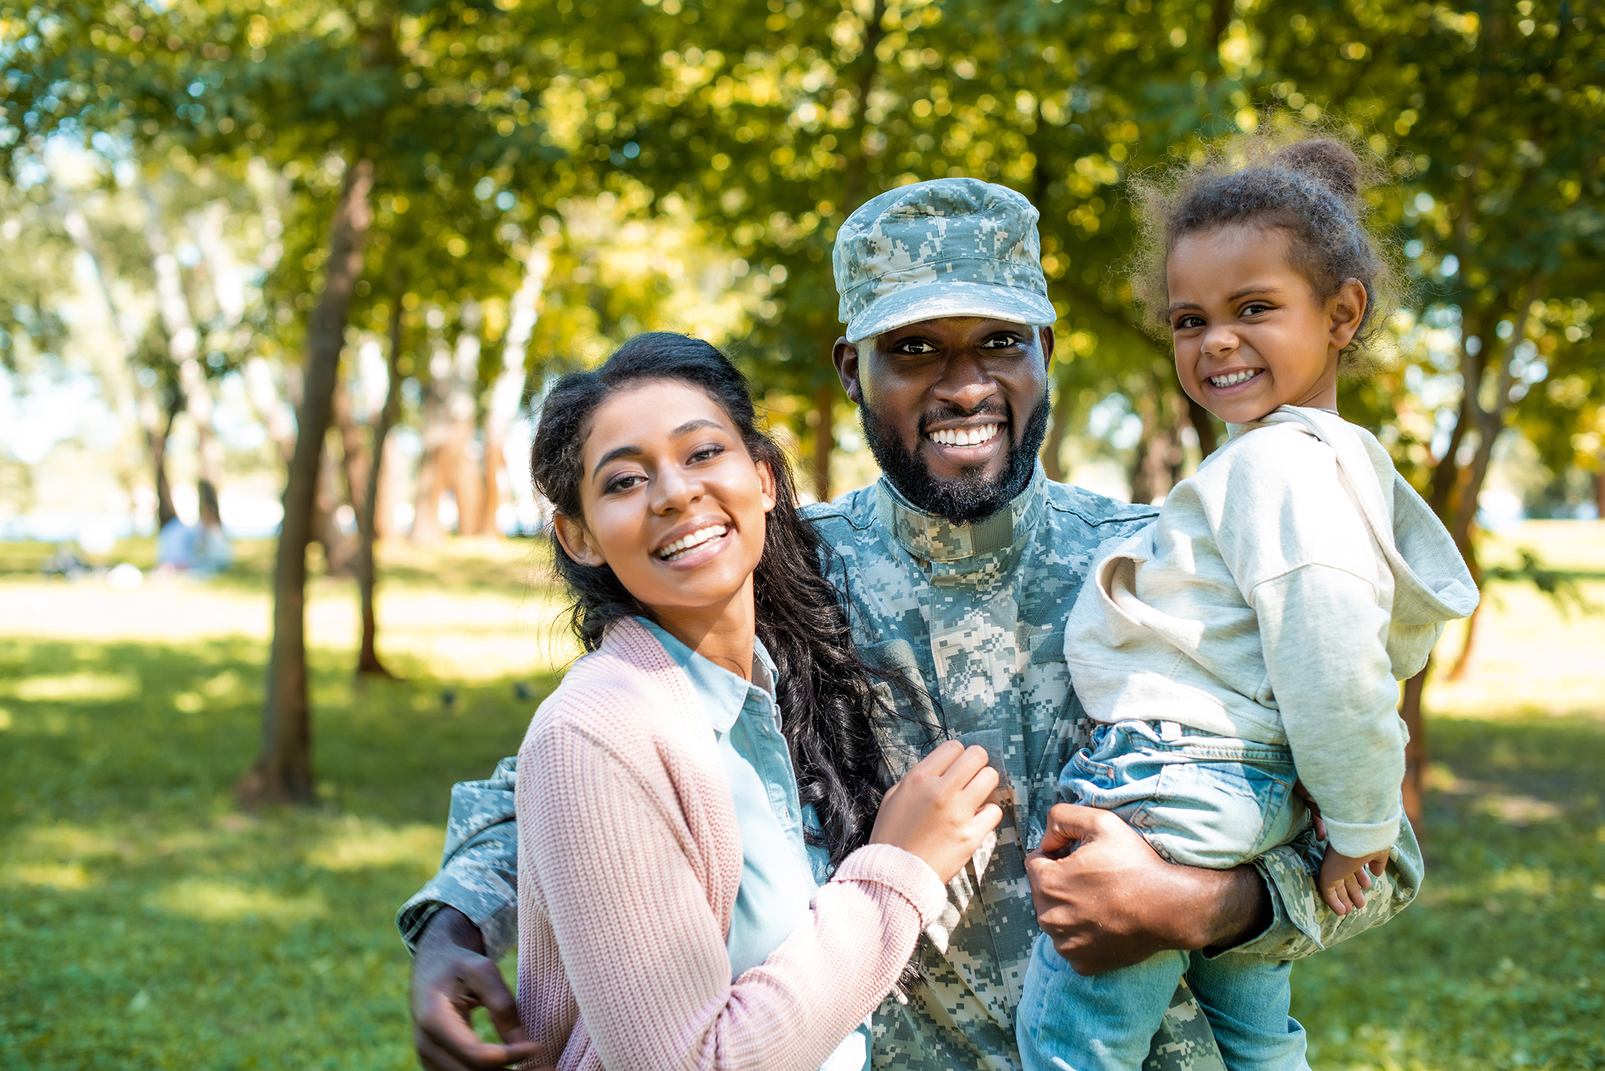
M892 487L904 498L928 514L965 525L990 517L1026 490L1032 472L1037 469L1037 450L1042 448L1042 440L1048 434L1048 416L1051 413L1053 408L1048 405L1048 395L1043 393L1042 401L1032 409L1030 419L1026 421L1026 430L1018 445L1010 437L1010 430L1014 426L1013 414L1003 403L989 403L973 413L965 413L957 406L944 406L920 417L921 445L926 442L926 427L937 421L982 414L998 417L1003 422L998 435L1006 437L1005 448L1010 453L1003 472L992 480L981 475L981 469L965 474L957 480L941 480L931 475L931 470L918 458L918 451L910 453L902 440L897 438L897 434L881 422L867 403L859 405L859 422L863 426L863 438L868 442L875 461L880 462L881 472L886 474L886 478L892 482Z

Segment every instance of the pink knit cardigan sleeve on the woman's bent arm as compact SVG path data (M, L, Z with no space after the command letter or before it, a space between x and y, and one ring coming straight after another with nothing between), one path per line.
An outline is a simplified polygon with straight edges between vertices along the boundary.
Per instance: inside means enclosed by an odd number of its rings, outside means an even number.
M672 795L583 734L546 735L520 758L523 880L539 882L567 986L608 1071L819 1068L891 991L945 901L923 861L872 845L732 983Z

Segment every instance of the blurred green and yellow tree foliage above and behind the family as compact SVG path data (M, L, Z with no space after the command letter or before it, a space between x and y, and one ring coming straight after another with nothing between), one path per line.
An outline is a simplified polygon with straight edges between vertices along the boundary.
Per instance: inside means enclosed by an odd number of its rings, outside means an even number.
M1605 511L1600 22L1573 0L0 0L0 167L22 188L48 140L100 135L151 175L263 169L284 252L246 345L313 355L321 323L329 364L347 323L388 339L425 438L456 421L448 453L473 421L493 437L507 361L530 393L634 331L733 339L822 496L844 414L836 228L902 183L1006 183L1042 212L1061 313L1043 461L1064 475L1096 405L1140 429L1128 474L1152 499L1221 429L1124 279L1128 180L1223 136L1329 130L1388 169L1375 218L1414 283L1396 360L1345 387L1345 413L1475 568L1505 429L1557 480L1591 474ZM371 222L342 312L331 220L360 165ZM536 263L533 331L509 340ZM16 326L43 339L43 316Z

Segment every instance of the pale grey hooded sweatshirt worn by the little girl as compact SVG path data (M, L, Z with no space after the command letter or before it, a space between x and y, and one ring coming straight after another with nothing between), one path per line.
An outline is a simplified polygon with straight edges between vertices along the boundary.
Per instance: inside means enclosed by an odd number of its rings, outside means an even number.
M1099 723L1292 750L1347 856L1398 837L1398 684L1477 586L1371 432L1282 406L1233 426L1154 523L1093 565L1064 631Z

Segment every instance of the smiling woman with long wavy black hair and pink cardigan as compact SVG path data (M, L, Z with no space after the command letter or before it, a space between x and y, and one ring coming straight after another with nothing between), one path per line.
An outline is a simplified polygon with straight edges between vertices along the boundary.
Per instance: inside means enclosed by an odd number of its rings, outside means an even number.
M1002 817L985 751L942 743L881 798L875 681L711 345L637 336L563 377L533 470L591 654L518 753L530 1039L565 1071L859 1071Z

